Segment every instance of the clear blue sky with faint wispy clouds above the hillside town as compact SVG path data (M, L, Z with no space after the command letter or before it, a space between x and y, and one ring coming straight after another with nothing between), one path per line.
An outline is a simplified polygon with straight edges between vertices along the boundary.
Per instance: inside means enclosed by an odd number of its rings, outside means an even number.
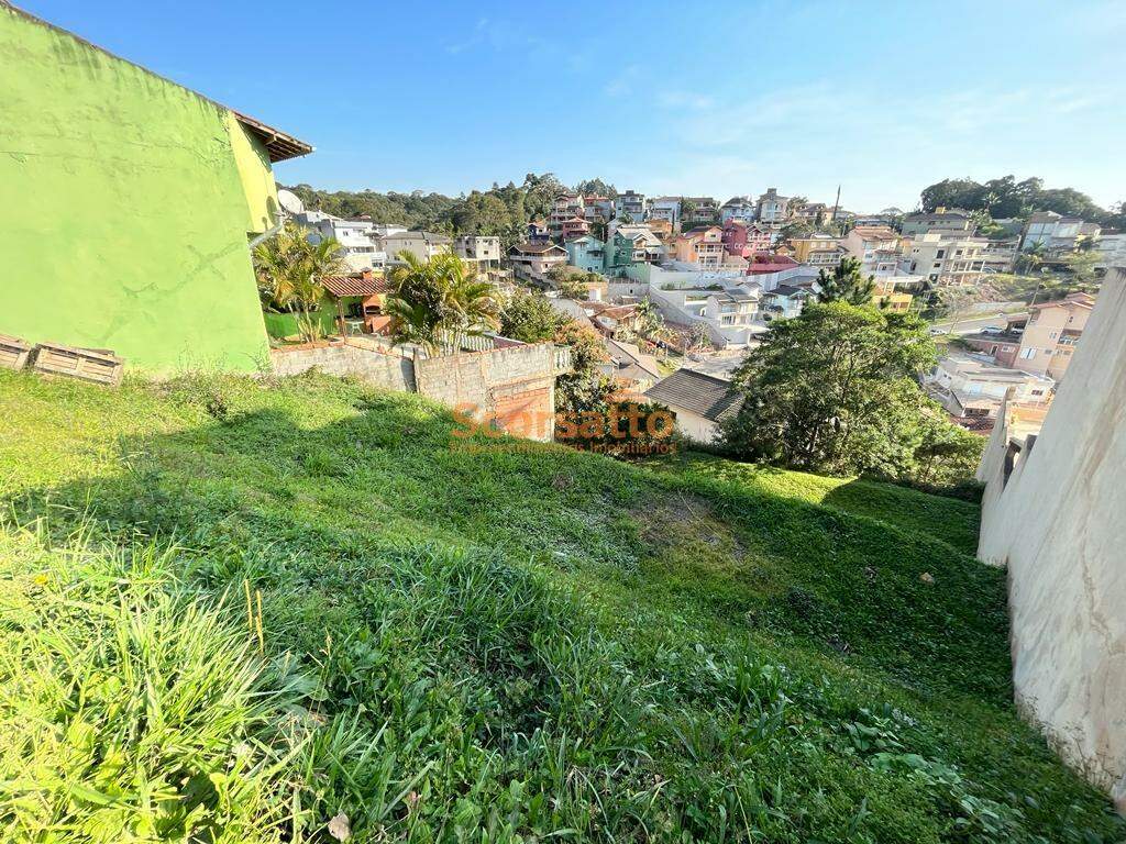
M316 146L279 181L552 171L910 208L944 177L1126 199L1126 2L18 6Z

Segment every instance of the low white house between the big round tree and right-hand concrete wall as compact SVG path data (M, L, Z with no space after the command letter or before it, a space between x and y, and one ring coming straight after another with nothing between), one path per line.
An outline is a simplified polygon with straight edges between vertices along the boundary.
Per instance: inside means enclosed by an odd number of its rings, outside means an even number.
M944 356L922 381L927 393L959 419L995 419L1009 390L1018 402L1047 402L1055 389L1052 378L964 353Z

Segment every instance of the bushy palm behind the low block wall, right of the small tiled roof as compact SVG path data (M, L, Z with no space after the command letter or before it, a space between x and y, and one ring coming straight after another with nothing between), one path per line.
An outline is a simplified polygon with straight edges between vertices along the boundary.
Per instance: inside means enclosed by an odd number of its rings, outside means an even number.
M492 285L477 281L461 258L439 254L422 261L405 250L397 258L402 263L391 271L394 293L384 304L395 342L432 352L498 326Z

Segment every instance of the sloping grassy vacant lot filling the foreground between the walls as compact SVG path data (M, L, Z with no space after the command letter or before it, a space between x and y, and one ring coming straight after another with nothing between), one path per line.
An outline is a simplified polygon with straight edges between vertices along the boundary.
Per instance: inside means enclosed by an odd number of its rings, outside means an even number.
M0 838L1126 832L1010 704L971 505L450 429L0 374Z

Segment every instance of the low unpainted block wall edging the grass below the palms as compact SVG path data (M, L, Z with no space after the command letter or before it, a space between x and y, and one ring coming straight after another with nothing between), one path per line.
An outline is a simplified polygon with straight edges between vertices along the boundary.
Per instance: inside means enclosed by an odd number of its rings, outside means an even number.
M517 437L555 432L555 347L510 345L437 358L402 358L364 338L274 349L274 371L316 369L404 393L420 393Z

